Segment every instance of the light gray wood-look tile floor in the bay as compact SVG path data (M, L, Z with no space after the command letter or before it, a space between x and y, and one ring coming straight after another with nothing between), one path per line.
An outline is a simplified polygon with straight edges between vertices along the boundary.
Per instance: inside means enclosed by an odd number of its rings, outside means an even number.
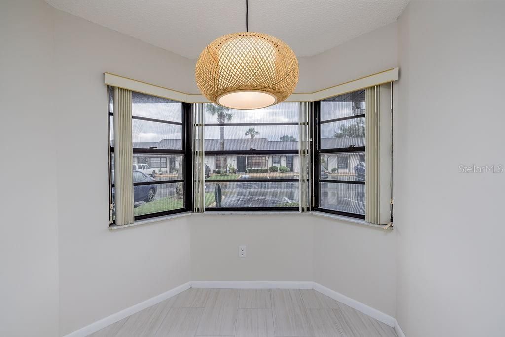
M90 336L396 337L315 290L188 289Z

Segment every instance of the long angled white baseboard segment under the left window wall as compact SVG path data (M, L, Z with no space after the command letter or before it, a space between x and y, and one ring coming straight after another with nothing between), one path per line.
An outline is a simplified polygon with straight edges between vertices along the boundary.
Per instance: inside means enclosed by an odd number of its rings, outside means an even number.
M70 332L69 334L65 335L65 337L87 336L88 334L91 334L93 332L96 332L96 331L108 326L108 325L116 323L116 322L122 320L123 318L133 315L134 313L137 313L141 310L144 310L148 307L158 304L158 303L160 303L160 302L162 302L172 296L182 293L183 291L185 291L189 288L191 288L191 282L188 282L188 283L185 283L185 284L180 285L178 287L172 288L169 291L166 291L165 293L162 293L162 294L157 295L155 297L151 297L148 300L145 300L143 302L135 304L134 306L131 306L129 308L121 310L120 312L117 312L117 313L112 314L108 317L100 319L94 323L86 325L86 326L80 328L79 330L75 330L74 332Z

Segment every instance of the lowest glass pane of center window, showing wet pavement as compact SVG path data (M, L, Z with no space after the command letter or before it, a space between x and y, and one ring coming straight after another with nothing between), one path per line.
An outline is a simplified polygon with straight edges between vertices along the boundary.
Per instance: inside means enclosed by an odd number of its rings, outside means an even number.
M206 183L212 196L208 207L218 207L215 199L221 187L221 207L298 207L298 182L261 182L247 180L233 183Z

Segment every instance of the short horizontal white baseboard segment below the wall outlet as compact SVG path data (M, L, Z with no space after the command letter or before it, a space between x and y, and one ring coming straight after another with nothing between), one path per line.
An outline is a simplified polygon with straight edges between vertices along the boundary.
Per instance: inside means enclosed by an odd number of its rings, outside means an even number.
M313 289L312 281L193 281L191 288Z

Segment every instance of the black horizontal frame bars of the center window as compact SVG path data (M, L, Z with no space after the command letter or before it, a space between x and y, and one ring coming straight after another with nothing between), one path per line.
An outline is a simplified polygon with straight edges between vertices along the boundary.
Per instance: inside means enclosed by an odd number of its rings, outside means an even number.
M206 103L206 104L211 104L211 103ZM282 104L282 103L279 103ZM204 109L205 109L205 104L204 104ZM264 122L264 123L205 123L204 122L204 127L207 126L224 126L224 127L233 127L233 126L287 126L287 125L299 125L298 122L286 122L286 123L280 123L280 122L275 122L275 123L270 123L270 122ZM205 140L204 140L205 142ZM298 143L299 147L299 143ZM271 156L271 155L298 155L298 149L296 150L256 150L256 149L249 149L249 150L205 150L205 155L216 155L216 156ZM267 168L268 168L268 158L267 158ZM245 181L242 181L245 182ZM276 183L287 183L287 182L297 182L299 183L299 179L275 179L275 180L266 180L266 179L247 179L247 183L267 183L267 182L276 182ZM205 179L205 183L237 183L237 180L234 179L219 179L219 180L208 180L208 178ZM299 186L298 186L299 188ZM247 212L257 212L257 211L286 211L286 212L298 212L299 207L205 207L205 212L241 212L241 211L247 211Z

